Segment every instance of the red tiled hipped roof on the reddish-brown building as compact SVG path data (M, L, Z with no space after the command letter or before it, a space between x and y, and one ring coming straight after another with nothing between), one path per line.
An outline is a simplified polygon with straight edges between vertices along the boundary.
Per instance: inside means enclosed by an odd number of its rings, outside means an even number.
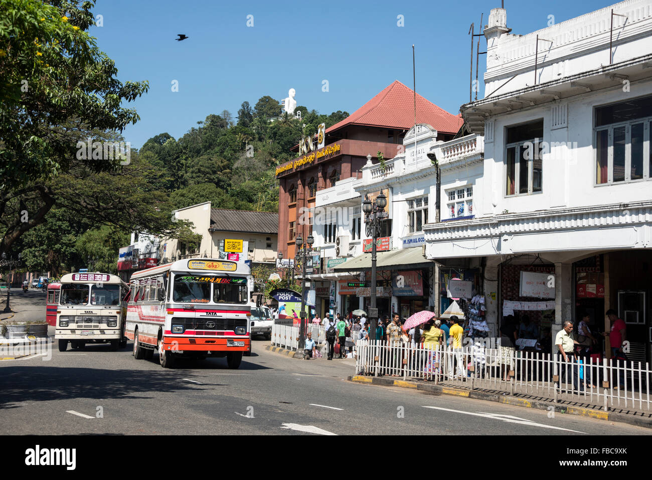
M452 115L417 93L417 123L428 123L438 132L457 133L464 120L461 115ZM414 127L414 91L394 80L358 110L327 128L326 132L334 132L346 125L373 125L409 130Z

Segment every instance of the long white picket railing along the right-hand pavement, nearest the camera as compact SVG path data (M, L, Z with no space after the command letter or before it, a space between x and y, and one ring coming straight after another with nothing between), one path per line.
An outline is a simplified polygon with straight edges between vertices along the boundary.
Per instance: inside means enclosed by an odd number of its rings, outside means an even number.
M486 344L423 348L403 342L361 341L356 346L355 372L532 395L554 402L580 401L604 410L651 410L648 363L594 357L571 357L566 362L561 355L488 348Z

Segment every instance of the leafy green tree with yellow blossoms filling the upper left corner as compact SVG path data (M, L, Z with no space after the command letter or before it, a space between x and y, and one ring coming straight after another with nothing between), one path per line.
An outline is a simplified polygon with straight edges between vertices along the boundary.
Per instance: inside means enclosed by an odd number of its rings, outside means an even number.
M76 120L90 129L122 131L139 119L122 107L147 82L122 83L113 61L87 29L93 1L0 0L1 189L25 187L65 172L78 151L78 132L58 128ZM66 134L68 133L68 134ZM87 159L93 172L118 160Z

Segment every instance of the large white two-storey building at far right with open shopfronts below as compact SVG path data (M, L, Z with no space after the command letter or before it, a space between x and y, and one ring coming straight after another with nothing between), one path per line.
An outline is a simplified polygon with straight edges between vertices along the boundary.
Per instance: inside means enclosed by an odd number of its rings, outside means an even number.
M461 109L484 135L482 173L466 179L473 217L431 220L426 256L475 259L466 261L481 267L494 333L503 314L525 308L552 337L584 313L608 331L614 308L630 359L649 361L652 3L510 32L507 12L492 10L485 97ZM537 278L548 279L538 292L527 283Z

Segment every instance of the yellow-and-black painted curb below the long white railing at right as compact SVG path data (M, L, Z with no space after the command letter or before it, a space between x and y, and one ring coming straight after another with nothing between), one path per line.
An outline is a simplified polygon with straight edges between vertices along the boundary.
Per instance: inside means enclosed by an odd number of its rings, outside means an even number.
M440 385L406 382L406 380L393 380L391 378L383 377L353 375L349 376L346 380L355 383L371 383L372 385L379 385L381 387L411 388L417 389L419 391L426 391L433 395L453 395L456 397L474 398L475 400L486 400L488 402L497 402L525 408L536 408L537 410L549 410L557 413L569 413L570 415L579 415L580 417L589 417L599 420L628 423L629 425L635 425L636 427L652 428L652 415L645 417L643 415L627 415L626 413L610 413L604 412L602 410L593 410L591 408L565 406L552 402L541 402L538 400L531 401L525 400L524 398L496 395L494 393L468 391L453 387L441 387Z

